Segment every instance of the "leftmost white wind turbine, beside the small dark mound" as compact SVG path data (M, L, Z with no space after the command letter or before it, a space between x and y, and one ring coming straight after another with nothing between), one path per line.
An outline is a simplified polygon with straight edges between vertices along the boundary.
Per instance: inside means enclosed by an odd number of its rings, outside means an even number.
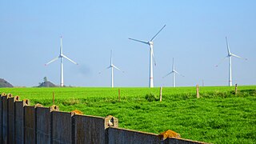
M63 58L66 58L67 60L69 60L70 62L73 62L74 64L78 65L77 62L72 61L70 58L67 58L66 55L63 54L63 50L62 50L62 37L61 37L61 47L60 47L60 53L58 55L57 58L54 58L53 60L51 60L50 62L46 63L45 66L49 65L50 63L58 60L58 58L61 59L61 83L60 86L64 86L64 76L63 76Z

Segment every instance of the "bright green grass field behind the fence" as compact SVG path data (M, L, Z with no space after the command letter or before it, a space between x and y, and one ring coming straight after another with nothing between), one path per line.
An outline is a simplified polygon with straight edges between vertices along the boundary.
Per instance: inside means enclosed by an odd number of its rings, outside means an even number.
M182 138L213 143L256 142L256 86L167 88L0 88L31 104L52 105L60 110L81 110L86 115L118 118L119 127L159 134L174 130Z

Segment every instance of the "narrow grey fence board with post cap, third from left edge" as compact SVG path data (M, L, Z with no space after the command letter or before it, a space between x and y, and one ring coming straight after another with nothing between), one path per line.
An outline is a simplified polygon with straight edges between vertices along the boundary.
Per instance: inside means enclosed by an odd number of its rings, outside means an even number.
M18 96L10 97L7 99L8 106L8 143L14 143L15 131L15 106L14 102L18 101Z

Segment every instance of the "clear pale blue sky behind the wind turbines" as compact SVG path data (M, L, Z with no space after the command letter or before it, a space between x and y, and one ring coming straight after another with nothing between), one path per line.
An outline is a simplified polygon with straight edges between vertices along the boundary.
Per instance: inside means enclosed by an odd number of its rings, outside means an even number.
M148 86L149 46L128 38L154 39L154 86L172 86L172 58L177 86L228 85L230 50L248 61L233 58L233 81L256 83L256 1L0 1L0 78L14 86L38 86L43 77L59 84L60 61L46 62L59 54L60 35L64 54L78 66L64 61L66 86L110 86L110 50L114 86Z

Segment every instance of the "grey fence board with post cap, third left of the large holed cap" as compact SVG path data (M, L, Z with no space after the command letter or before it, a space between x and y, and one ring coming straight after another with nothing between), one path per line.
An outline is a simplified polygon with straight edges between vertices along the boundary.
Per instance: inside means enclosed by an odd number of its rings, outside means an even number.
M50 143L50 112L53 110L58 110L58 106L36 108L36 136L38 143Z

